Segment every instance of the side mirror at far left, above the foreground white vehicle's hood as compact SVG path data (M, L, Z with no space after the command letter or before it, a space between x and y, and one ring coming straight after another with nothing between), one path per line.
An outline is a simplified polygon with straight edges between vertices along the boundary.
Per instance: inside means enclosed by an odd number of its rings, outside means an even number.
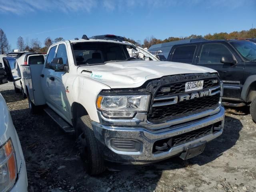
M21 79L21 75L20 75L20 69L13 69L11 68L10 64L14 64L16 62L15 58L12 57L4 57L3 58L3 62L4 62L4 70L6 72L6 77L7 80L10 82L14 82L14 81L18 81Z

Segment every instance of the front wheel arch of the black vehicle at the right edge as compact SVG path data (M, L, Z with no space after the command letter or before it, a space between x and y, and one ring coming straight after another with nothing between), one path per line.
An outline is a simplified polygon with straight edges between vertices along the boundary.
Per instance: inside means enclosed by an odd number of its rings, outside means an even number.
M251 75L244 82L241 98L245 102L251 102L255 97L256 97L256 75Z

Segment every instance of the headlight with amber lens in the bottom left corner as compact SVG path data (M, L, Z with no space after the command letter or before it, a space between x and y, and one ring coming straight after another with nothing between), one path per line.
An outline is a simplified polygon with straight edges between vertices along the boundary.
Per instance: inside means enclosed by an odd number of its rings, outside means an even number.
M12 141L0 147L0 191L6 192L15 184L17 166Z

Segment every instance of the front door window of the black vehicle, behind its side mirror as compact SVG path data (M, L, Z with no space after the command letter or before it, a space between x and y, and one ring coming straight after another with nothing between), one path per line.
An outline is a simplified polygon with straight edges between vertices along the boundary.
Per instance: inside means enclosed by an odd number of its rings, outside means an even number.
M221 64L220 60L223 56L232 58L232 53L223 44L204 44L198 64Z

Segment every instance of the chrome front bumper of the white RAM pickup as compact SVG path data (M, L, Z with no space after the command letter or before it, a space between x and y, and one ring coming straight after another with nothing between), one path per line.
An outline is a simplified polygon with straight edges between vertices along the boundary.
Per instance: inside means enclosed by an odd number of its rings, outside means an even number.
M100 149L102 150L102 154L106 160L111 162L121 162L124 164L144 164L175 156L184 152L189 146L198 144L200 142L209 142L210 140L220 136L224 127L224 112L224 107L219 106L218 112L215 114L210 114L199 119L197 118L186 123L172 124L172 126L168 125L168 127L166 127L167 124L164 124L164 126L161 125L164 128L161 127L160 129L160 125L157 126L158 129L152 129L152 125L150 124L148 124L148 126L146 126L146 124L138 124L136 126L131 125L131 122L130 126L116 126L102 124L102 122L92 122L92 126L94 129L94 134L98 139L99 144L101 144ZM195 140L174 146L168 151L158 154L153 153L153 145L158 140L171 138L173 136L197 130L217 122L221 122L221 129L218 132L207 134ZM110 144L110 140L112 139L134 140L140 142L140 151L127 152L115 150Z

